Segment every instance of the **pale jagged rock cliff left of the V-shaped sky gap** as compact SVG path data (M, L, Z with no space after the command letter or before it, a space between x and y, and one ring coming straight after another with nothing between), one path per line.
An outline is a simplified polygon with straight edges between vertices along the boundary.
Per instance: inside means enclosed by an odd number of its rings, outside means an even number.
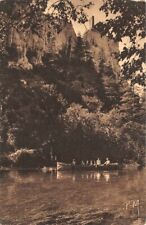
M72 24L66 24L59 33L52 29L54 37L50 39L48 32L50 32L48 22L44 23L37 33L33 33L31 29L18 31L16 27L12 27L8 35L8 49L9 53L13 53L13 57L8 62L8 66L29 70L35 65L42 65L42 58L46 53L56 54L63 48L70 57L76 41Z

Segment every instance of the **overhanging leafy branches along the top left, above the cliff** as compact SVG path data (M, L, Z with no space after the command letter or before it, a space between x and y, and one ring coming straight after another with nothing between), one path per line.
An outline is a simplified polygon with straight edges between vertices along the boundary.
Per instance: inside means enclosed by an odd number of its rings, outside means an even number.
M91 2L74 6L72 0L2 0L0 12L7 14L11 19L11 25L17 25L27 29L40 26L42 19L48 20L50 24L60 27L62 23L71 20L85 23L87 16L85 8L89 8Z

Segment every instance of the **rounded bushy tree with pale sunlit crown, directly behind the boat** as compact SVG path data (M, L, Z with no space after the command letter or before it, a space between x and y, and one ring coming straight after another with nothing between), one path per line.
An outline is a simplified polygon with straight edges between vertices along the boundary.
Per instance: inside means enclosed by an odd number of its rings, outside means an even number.
M63 115L64 135L60 145L64 157L79 161L107 155L107 135L99 121L99 112L89 112L79 104L71 104ZM63 134L63 132L62 132ZM110 153L109 153L110 154Z

